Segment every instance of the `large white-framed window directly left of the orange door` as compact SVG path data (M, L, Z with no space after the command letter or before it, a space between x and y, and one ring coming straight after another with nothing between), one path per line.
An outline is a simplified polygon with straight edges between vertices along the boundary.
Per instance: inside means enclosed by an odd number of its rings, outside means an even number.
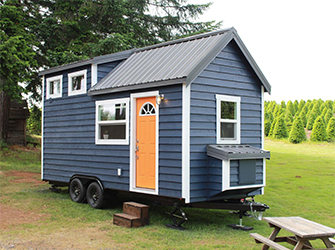
M96 101L96 144L128 144L129 98Z

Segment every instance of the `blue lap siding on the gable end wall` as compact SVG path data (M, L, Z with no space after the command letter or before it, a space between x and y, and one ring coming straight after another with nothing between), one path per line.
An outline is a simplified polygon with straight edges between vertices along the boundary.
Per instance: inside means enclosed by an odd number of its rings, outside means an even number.
M208 162L206 151L207 144L216 144L216 94L241 97L241 144L260 148L260 86L235 42L223 49L192 83L191 202L204 201L222 187L221 161ZM208 164L212 168L207 168Z

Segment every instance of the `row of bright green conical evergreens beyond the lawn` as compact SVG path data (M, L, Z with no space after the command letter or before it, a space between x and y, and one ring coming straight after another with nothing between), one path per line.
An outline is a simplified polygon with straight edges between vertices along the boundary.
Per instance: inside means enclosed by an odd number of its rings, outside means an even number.
M264 104L264 133L272 138L289 138L292 143L335 140L335 101L297 100L280 104L266 101Z

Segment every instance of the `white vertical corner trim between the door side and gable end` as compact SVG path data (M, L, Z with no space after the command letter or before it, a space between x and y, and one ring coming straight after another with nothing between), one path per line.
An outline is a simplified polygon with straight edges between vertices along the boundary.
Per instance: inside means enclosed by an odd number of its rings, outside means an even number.
M182 108L182 198L190 203L190 109L191 85L183 83Z

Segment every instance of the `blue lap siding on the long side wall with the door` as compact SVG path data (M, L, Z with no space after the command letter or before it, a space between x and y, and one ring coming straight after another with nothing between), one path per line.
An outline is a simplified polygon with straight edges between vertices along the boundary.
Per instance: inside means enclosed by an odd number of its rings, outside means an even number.
M103 66L114 67L116 63ZM95 101L130 97L130 92L88 96L68 96L68 73L87 69L87 89L91 86L89 66L62 72L62 97L44 101L43 176L45 180L68 183L75 174L95 176L105 188L129 190L129 145L95 145ZM99 77L103 73L98 67ZM111 69L108 69L111 70ZM57 73L55 75L60 75ZM47 75L45 78L54 75ZM143 91L152 91L146 89ZM140 91L137 91L140 92ZM159 194L181 197L181 86L162 87L166 102L160 105ZM45 97L45 93L44 93ZM131 111L129 110L130 114ZM176 123L177 122L177 123ZM179 125L180 124L180 125ZM131 129L131 124L130 124ZM122 168L122 177L117 169Z

